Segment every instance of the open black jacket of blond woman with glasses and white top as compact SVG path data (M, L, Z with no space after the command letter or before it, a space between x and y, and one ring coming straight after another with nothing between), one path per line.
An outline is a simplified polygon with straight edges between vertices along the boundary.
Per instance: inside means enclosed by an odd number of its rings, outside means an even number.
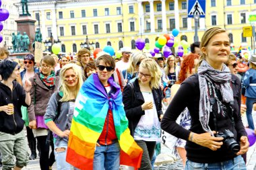
M156 111L158 112L158 119L160 121L160 115L162 113L162 90L152 89L154 101L156 104ZM134 135L134 130L139 123L141 116L145 114L142 110L141 105L144 103L143 95L139 89L139 81L135 79L133 82L133 89L131 85L126 85L123 91L123 104L125 105L125 114L129 120L129 129L131 136Z

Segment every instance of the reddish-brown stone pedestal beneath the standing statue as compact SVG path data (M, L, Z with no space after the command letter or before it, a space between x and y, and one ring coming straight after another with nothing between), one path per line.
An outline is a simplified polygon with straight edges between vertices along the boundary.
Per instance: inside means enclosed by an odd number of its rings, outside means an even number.
M24 32L28 34L30 38L30 45L28 46L28 50L33 52L32 43L34 42L35 31L36 28L34 26L36 19L33 19L30 15L20 15L18 19L15 20L17 22L17 31L23 35Z

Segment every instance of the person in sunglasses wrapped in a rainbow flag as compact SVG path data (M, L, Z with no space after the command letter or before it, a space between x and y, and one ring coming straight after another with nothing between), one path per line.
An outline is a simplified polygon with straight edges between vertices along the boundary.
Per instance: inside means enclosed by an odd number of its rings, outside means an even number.
M111 77L114 58L108 54L98 57L96 71L75 100L67 162L78 169L139 168L143 151L130 135L122 93Z

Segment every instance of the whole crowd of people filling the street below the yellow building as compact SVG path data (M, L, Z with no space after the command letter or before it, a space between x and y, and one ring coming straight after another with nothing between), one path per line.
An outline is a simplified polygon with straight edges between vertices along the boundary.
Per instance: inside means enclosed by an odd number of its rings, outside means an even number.
M150 170L161 130L176 137L185 169L246 169L241 114L255 130L256 56L232 54L218 27L190 49L154 58L124 47L119 60L82 48L76 60L53 54L36 63L33 54L10 60L0 48L2 169L40 157L42 170L55 162L61 170Z

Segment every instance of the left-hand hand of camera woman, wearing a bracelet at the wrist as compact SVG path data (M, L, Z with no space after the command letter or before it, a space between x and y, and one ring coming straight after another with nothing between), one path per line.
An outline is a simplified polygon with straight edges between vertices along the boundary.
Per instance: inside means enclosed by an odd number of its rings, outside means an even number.
M213 131L216 134L215 131ZM190 134L191 135L191 134ZM192 142L210 148L212 151L217 151L223 144L222 137L211 136L210 132L203 134L193 134Z

